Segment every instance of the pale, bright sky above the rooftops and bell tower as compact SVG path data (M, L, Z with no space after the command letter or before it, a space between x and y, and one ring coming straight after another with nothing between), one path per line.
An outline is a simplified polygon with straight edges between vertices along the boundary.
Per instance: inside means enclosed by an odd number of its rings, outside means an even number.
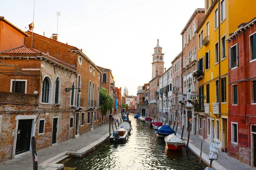
M34 0L1 2L0 16L27 31ZM115 86L137 87L152 77L154 47L163 48L164 67L182 51L181 31L204 0L35 0L34 32L83 50L96 65L112 70ZM26 27L26 28L25 28Z

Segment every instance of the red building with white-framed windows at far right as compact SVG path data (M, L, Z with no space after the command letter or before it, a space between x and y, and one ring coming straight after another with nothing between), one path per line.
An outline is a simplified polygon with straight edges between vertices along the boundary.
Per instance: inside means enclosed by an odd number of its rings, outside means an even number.
M228 38L228 155L256 166L256 18Z

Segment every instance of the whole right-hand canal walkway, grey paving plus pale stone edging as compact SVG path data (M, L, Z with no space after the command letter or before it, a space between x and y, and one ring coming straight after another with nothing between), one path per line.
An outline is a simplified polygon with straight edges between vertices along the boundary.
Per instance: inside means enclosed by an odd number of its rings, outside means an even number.
M180 137L182 130L178 127L176 135ZM184 130L183 132L183 139L187 138L188 132ZM186 140L184 140L186 142ZM189 149L192 150L193 153L200 156L200 149L201 149L201 142L203 142L202 147L202 159L205 163L209 165L209 144L205 142L203 139L199 138L198 136L193 135L190 133L189 136ZM216 170L255 170L255 168L250 167L243 162L234 159L227 155L227 153L220 152L220 156L217 161L212 162L212 167Z

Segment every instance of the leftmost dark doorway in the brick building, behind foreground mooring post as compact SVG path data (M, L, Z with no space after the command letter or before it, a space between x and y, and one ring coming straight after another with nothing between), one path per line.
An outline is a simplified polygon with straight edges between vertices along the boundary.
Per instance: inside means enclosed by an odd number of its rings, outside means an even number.
M18 122L15 155L29 151L32 119L20 119Z

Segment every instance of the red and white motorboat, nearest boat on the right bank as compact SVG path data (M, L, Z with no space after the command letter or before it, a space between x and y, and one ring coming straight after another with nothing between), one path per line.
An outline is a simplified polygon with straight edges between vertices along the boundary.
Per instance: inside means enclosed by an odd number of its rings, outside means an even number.
M175 134L168 135L164 138L166 146L170 150L181 150L185 142Z

